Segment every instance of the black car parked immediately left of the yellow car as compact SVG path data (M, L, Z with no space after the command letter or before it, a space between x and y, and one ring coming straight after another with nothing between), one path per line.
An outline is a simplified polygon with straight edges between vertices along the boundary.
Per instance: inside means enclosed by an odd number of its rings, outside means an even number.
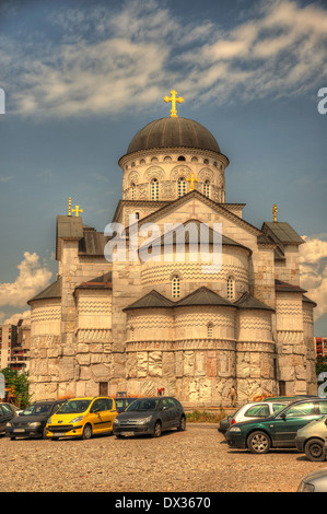
M16 437L46 439L46 424L49 416L54 414L67 400L36 401L21 412L17 418L9 421L5 435L11 440Z

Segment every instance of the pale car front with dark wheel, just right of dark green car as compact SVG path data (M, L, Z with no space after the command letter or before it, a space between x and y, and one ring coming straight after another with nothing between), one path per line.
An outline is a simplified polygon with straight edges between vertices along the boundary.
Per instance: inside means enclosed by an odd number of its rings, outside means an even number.
M311 423L297 430L295 436L296 448L305 453L310 460L326 460L325 441L327 437L327 416L312 421Z

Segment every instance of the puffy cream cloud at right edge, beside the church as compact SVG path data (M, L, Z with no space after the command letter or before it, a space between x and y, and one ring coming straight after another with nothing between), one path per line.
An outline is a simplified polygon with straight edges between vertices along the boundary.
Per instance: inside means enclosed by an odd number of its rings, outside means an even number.
M317 319L327 314L327 241L316 235L303 238L305 244L300 246L301 285L317 303L314 311Z

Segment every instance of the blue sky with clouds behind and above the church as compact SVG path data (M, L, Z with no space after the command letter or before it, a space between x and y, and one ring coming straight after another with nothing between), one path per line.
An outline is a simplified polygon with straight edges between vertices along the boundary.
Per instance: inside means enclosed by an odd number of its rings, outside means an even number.
M117 161L144 125L205 125L231 161L226 201L260 227L306 236L302 283L327 336L327 5L324 1L2 1L0 320L54 280L68 197L103 231L121 198Z

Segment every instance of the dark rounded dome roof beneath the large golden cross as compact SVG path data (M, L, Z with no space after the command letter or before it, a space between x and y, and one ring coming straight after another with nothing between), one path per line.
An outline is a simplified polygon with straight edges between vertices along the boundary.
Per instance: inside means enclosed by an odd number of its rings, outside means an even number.
M221 153L206 127L187 118L161 118L143 127L131 140L127 153L157 148L187 147Z

